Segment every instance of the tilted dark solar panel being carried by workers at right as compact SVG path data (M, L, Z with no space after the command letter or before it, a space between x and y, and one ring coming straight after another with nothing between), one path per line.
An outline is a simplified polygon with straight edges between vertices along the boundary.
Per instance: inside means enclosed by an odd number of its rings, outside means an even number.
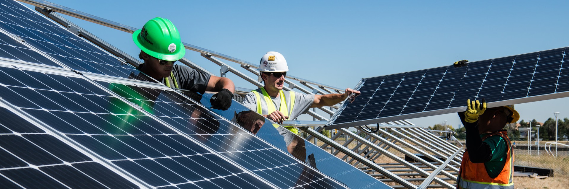
M569 48L364 78L354 103L344 104L327 129L465 110L467 99L489 107L569 96Z

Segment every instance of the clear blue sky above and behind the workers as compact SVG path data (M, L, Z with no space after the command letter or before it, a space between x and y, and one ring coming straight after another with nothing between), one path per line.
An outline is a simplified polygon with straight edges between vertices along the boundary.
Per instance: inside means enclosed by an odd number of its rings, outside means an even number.
M77 1L72 9L141 28L156 16L182 41L253 64L267 51L287 59L288 73L340 88L361 78L569 47L569 1ZM69 18L69 16L66 16ZM130 33L71 19L137 57ZM219 67L187 51L219 74ZM234 67L233 62L226 61ZM244 71L245 72L245 71ZM253 74L250 74L253 77ZM229 75L239 87L254 86ZM522 119L569 117L569 98L516 104ZM455 128L456 114L411 119Z

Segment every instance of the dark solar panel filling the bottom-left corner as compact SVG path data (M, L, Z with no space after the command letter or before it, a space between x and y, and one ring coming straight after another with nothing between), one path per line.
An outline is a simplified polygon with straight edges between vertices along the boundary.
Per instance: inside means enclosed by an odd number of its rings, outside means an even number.
M139 188L4 107L0 157L0 188Z

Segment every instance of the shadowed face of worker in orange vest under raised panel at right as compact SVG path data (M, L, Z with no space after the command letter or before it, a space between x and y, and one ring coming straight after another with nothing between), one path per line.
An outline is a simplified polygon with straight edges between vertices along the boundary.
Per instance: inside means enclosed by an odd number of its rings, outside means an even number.
M488 108L479 117L478 131L480 134L500 131L505 125L506 114L498 109Z

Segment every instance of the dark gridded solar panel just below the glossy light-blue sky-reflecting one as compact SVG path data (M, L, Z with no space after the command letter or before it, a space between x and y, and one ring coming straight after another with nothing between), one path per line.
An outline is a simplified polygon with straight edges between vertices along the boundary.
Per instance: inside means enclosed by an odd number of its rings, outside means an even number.
M250 128L245 131L174 91L118 83L98 83L102 86L108 86L108 89L114 93L133 104L137 104L140 107L139 109L158 117L179 132L221 153L222 156L232 159L238 165L263 179L269 180L279 188L344 188L341 184L302 163L305 162L302 154L306 153L302 153L302 151L306 151L304 145L301 144L304 142L302 138L297 136L295 140L293 136L290 136L289 143L299 144L298 147L291 148L291 150L301 152L293 153L300 154L296 157L302 162L298 162L283 154L281 150L275 149L251 135L250 131L258 131L258 128L265 124L264 119L255 118L254 115L258 116L256 113L240 112L240 117L243 116L241 117L242 122L240 121L237 125L249 125ZM196 102L203 103L205 100L207 102L207 104L203 104L205 107L211 106L209 104L211 94L207 94L205 97L196 93L187 93L186 95ZM228 119L233 119L237 112L232 110L234 108L227 111L219 110L219 112L231 113L232 117ZM248 116L255 120L245 120L244 118Z

